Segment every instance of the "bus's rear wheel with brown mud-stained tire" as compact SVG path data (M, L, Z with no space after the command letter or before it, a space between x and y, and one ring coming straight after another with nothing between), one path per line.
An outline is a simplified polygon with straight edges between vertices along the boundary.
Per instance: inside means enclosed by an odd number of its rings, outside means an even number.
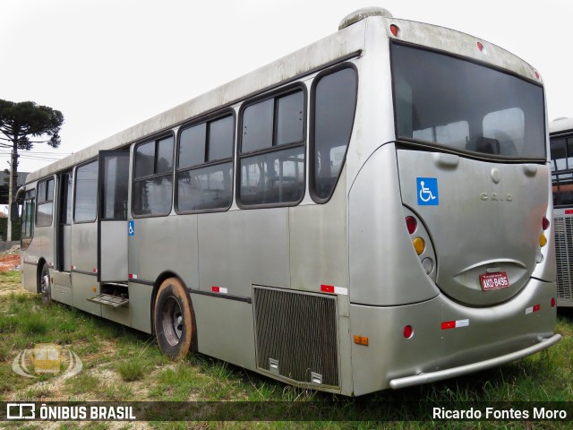
M192 344L192 306L180 280L164 280L153 312L159 349L174 361L184 358Z

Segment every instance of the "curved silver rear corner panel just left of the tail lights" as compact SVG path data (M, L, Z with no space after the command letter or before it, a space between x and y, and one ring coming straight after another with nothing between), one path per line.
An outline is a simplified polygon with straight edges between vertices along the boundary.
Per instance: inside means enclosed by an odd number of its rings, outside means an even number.
M348 196L350 301L405 305L439 289L426 276L406 229L394 144L376 150Z

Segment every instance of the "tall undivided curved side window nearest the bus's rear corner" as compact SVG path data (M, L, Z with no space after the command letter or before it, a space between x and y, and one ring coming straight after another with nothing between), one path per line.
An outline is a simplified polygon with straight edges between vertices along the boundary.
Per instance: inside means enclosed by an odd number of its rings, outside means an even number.
M313 83L311 193L315 202L328 202L338 182L354 124L356 94L357 76L351 67Z

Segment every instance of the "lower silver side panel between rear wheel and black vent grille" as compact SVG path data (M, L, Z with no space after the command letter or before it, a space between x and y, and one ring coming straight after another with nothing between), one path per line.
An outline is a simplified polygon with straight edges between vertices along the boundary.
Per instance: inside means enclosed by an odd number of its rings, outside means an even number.
M192 294L199 352L256 369L252 305Z

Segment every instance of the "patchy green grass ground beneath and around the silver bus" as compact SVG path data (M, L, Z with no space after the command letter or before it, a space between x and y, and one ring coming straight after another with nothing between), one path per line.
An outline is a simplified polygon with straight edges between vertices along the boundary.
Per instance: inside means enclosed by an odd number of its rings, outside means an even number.
M145 333L85 314L66 305L41 305L38 295L24 292L17 272L0 272L0 401L100 400L100 401L212 401L229 405L264 401L265 412L278 409L278 417L292 413L289 405L308 405L306 413L321 406L320 422L136 423L132 428L535 428L529 422L401 421L420 405L456 402L521 402L573 400L573 312L560 310L557 331L563 340L549 351L440 383L399 391L381 391L358 399L309 391L228 365L220 360L189 355L180 363L163 357L155 340ZM13 359L38 343L56 343L73 350L83 370L68 379L42 374L26 378L13 372ZM295 403L290 403L295 402ZM303 403L301 403L303 402ZM321 403L316 403L321 402ZM482 403L482 404L483 404ZM248 403L244 403L248 405ZM370 405L370 406L369 406ZM397 421L346 422L347 417L371 417L368 409L383 409ZM239 407L242 408L239 403ZM366 408L366 409L365 409ZM363 414L363 415L359 415ZM235 415L231 416L235 417ZM319 416L317 416L319 417ZM6 428L20 428L6 423ZM41 423L36 423L41 424ZM28 423L27 428L42 428ZM123 428L116 426L115 428ZM133 424L133 423L132 423ZM0 424L0 426L4 423ZM568 422L543 422L543 428L568 428ZM127 424L125 428L130 428ZM78 428L108 428L106 423L82 423ZM23 427L22 427L23 428ZM76 428L63 423L55 428Z

